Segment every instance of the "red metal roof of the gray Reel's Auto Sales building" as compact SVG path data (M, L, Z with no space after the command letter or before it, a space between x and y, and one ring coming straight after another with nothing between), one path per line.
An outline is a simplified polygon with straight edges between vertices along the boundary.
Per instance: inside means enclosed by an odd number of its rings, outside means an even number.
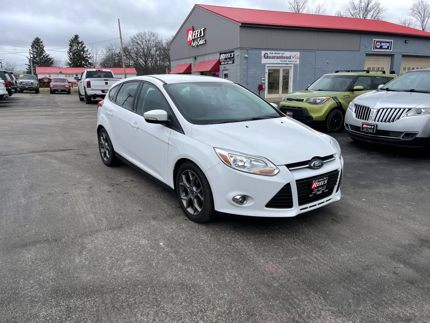
M203 4L196 4L195 6L206 9L219 16L230 19L234 22L238 22L240 24L338 29L345 31L367 31L430 37L430 33L427 31L405 27L383 20L356 19L348 17L322 16L311 15L307 13L258 9L230 8Z

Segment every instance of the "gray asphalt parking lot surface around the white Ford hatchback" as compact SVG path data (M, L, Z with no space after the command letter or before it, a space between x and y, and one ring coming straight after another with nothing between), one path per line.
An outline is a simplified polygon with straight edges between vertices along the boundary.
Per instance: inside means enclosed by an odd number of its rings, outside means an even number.
M334 137L342 199L189 221L97 148L96 104L0 101L0 322L429 322L430 158Z

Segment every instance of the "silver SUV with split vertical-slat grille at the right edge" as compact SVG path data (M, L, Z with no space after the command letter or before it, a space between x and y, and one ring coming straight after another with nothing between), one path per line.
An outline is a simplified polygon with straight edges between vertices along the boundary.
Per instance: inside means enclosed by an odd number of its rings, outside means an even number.
M430 68L408 71L348 106L345 129L354 140L425 147L430 153Z

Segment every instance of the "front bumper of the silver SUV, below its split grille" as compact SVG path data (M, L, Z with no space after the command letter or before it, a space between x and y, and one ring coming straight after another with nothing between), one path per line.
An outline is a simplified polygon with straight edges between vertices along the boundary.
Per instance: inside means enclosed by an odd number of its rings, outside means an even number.
M363 132L363 123L376 124L376 132ZM345 130L351 138L369 143L424 147L430 141L430 115L403 117L394 123L377 123L359 120L348 109L345 115Z

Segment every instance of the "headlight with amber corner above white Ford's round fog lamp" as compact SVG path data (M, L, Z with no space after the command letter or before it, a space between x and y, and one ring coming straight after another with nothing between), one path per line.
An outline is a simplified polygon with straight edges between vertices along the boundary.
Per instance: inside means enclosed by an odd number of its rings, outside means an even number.
M265 176L274 176L279 173L279 168L264 157L246 155L242 152L223 148L215 147L214 149L225 165L238 171Z

